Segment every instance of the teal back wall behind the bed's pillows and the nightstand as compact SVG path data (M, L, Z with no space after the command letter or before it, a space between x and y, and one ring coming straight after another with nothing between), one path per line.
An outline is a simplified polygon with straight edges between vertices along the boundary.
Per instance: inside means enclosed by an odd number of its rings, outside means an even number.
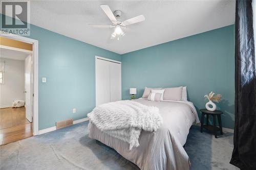
M234 127L234 26L208 31L122 55L122 99L147 87L187 86L188 100L205 108L204 95L222 94L222 124ZM199 113L199 111L198 111ZM199 113L199 116L201 114Z

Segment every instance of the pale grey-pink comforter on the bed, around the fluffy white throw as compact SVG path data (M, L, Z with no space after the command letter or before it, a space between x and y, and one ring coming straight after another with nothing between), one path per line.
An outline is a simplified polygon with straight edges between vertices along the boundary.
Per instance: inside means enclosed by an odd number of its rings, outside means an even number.
M89 137L115 149L140 169L189 169L190 161L183 145L193 123L199 123L197 111L191 102L134 100L146 106L156 106L163 118L155 132L141 131L139 147L129 150L129 143L99 130L90 121Z

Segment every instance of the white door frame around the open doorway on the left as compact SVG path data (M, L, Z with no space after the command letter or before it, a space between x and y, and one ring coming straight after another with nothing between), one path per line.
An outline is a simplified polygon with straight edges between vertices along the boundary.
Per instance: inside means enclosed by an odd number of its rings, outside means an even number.
M0 36L33 44L33 135L38 135L38 40L15 34L0 33Z

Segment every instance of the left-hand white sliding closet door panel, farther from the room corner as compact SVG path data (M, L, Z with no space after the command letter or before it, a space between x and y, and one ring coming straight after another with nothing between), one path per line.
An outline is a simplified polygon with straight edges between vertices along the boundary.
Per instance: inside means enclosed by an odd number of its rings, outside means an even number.
M110 102L110 62L96 59L96 106Z

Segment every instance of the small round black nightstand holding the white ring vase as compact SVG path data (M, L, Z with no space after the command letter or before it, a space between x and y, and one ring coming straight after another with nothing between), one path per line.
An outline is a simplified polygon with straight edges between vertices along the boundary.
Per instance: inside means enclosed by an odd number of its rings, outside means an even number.
M215 138L217 138L217 131L221 132L221 135L223 135L222 132L222 125L221 125L221 114L223 114L220 110L215 111L209 111L207 109L200 109L202 115L201 115L201 133L203 132L203 128L214 132ZM209 114L212 115L214 118L214 125L209 125ZM204 124L204 115L206 115L206 125ZM218 122L219 127L216 126L216 116L218 116Z

